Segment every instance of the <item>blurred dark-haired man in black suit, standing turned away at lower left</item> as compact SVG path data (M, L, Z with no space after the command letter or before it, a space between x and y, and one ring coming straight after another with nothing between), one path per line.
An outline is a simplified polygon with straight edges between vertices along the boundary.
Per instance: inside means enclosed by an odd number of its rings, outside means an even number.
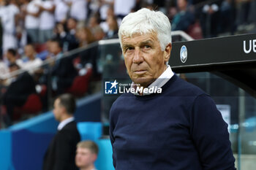
M58 132L45 153L43 170L75 170L75 150L80 134L75 123L75 98L62 94L54 101L53 115L59 121Z

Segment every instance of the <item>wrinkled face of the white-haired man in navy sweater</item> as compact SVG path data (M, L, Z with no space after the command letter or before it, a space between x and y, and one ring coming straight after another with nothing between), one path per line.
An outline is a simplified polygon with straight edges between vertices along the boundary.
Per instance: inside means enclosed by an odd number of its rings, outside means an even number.
M167 68L171 44L162 51L156 33L122 36L121 42L129 77L136 84L147 87Z

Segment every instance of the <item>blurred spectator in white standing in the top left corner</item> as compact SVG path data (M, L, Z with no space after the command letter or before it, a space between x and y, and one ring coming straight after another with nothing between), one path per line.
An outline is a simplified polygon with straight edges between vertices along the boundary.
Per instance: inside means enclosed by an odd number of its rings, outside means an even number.
M17 38L15 36L15 26L18 23L18 14L20 10L10 0L1 1L0 8L2 34L2 50L5 53L9 48L17 47Z

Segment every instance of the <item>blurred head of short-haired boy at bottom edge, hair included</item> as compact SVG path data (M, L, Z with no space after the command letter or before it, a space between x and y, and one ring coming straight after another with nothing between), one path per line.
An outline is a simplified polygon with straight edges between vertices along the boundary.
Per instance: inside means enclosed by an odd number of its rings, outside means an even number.
M80 170L97 170L94 162L97 160L99 147L92 141L81 141L77 145L75 164Z

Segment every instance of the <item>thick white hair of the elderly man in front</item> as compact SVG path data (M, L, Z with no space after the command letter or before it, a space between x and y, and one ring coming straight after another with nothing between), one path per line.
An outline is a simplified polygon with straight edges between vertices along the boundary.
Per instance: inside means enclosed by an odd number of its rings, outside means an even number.
M121 37L131 37L134 34L148 34L156 32L161 50L172 42L170 21L162 12L150 9L140 9L137 12L129 13L121 22L118 37L121 44Z

